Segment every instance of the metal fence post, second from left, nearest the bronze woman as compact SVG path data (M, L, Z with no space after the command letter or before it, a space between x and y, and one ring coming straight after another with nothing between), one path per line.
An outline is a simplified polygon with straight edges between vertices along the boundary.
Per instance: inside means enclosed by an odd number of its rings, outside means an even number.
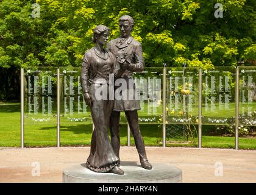
M60 147L60 69L57 69L57 147Z

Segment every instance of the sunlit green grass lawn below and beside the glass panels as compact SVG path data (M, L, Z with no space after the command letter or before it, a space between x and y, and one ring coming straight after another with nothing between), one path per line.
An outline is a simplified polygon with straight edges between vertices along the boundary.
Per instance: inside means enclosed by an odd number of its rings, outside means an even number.
M26 147L56 146L56 118L50 117L49 121L34 122L31 117L25 117L24 122ZM162 134L161 130L158 129L157 126L158 124L140 122L141 134L143 135L146 146L162 146ZM235 147L234 137L208 136L206 135L207 133L204 133L207 132L204 127L208 126L203 126L202 147ZM91 133L92 125L90 120L83 122L71 122L66 118L61 118L61 146L89 146ZM120 137L121 145L126 146L127 124L123 122L121 123ZM197 147L197 142L191 144L189 141L190 140L182 141L167 138L166 146ZM131 138L131 145L134 146L133 138ZM20 104L18 103L0 103L0 146L20 147ZM256 139L240 138L239 147L240 149L256 149Z

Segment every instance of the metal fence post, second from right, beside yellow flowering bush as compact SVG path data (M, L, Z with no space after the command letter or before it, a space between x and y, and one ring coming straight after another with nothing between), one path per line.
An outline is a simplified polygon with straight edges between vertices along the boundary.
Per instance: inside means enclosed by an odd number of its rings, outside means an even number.
M198 75L198 147L202 147L202 69Z

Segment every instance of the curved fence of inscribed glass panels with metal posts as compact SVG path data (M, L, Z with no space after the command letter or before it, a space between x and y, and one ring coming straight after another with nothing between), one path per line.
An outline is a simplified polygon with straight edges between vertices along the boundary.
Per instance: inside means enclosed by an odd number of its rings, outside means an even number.
M235 125L235 149L238 127L255 126L256 68L254 66L215 67L212 70L190 67L146 68L135 73L140 94L141 122L162 121L163 147L166 147L166 123L194 124L198 129L198 147L202 147L202 124ZM73 121L91 122L80 85L80 68L37 67L21 69L21 147L24 147L24 119L46 121L57 129ZM121 117L121 121L126 122ZM168 134L168 132L167 132ZM127 145L130 129L127 125Z

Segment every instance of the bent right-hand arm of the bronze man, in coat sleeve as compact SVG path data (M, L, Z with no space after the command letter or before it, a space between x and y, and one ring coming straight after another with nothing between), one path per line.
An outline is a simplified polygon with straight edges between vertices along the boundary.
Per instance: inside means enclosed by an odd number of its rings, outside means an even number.
M144 69L144 59L141 44L135 49L135 63L129 63L127 69L132 72L141 73Z

